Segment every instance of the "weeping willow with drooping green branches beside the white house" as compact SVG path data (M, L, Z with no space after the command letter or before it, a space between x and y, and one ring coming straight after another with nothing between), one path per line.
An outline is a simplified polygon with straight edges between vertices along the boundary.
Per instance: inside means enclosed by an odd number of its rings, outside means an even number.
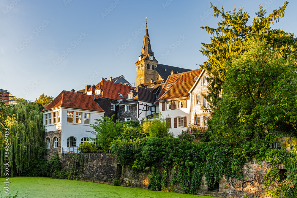
M18 103L8 108L11 115L6 121L9 128L9 176L13 177L29 168L30 162L40 159L45 154L45 142L43 137L45 127L43 126L43 114L40 113L38 104ZM5 150L3 131L0 134L0 169L1 177L4 176Z

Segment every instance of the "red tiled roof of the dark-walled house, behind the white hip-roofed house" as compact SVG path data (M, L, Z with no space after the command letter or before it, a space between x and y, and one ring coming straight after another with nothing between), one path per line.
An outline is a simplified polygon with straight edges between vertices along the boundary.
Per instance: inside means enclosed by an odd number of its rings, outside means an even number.
M98 98L109 98L113 100L118 99L124 99L127 97L127 93L131 92L134 87L130 87L127 85L121 85L119 83L112 83L107 80L101 80L100 83L98 83L95 87L95 90L102 89L103 91L101 94L96 95L95 99ZM123 95L123 97L120 97L119 93ZM94 93L95 94L95 93Z

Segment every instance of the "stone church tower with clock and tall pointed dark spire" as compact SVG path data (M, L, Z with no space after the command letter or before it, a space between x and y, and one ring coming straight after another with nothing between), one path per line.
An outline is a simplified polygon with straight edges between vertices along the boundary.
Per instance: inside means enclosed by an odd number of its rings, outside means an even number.
M158 66L158 61L154 57L154 52L151 51L151 42L149 40L149 31L146 26L146 33L143 39L143 46L141 55L138 56L138 61L136 62L136 83L137 85L141 83L148 83L151 79L155 79L155 68Z

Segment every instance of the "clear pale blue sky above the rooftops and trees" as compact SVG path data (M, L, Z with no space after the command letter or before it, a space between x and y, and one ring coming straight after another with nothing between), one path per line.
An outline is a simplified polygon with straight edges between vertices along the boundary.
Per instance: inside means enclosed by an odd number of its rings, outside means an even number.
M211 0L218 8L243 7L251 16L260 4L270 14L279 0ZM34 101L58 96L123 75L136 83L145 23L159 64L196 69L206 57L201 42L210 35L201 26L217 27L209 1L188 0L1 0L0 89ZM297 34L297 2L272 28ZM176 45L173 45L176 44ZM169 51L169 55L166 54Z

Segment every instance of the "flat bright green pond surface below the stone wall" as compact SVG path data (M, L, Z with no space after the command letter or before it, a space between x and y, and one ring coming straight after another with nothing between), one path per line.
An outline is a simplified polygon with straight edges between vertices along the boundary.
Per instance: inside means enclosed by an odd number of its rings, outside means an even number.
M4 178L0 178L0 182ZM85 181L72 181L50 179L44 177L14 177L10 178L9 192L15 195L19 191L18 197L150 197L150 198L211 198L203 195L190 195L173 192L151 191L147 189L137 189L121 186L111 186L108 184L92 183ZM4 182L0 183L0 191L3 197L7 196L4 193Z

